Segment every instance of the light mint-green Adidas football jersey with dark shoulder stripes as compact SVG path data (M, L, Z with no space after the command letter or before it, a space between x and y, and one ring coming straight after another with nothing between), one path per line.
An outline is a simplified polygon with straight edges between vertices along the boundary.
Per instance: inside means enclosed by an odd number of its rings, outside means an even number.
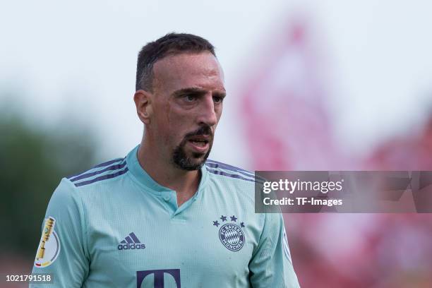
M282 215L254 212L252 172L208 160L178 207L137 151L61 180L33 268L46 287L299 287Z

